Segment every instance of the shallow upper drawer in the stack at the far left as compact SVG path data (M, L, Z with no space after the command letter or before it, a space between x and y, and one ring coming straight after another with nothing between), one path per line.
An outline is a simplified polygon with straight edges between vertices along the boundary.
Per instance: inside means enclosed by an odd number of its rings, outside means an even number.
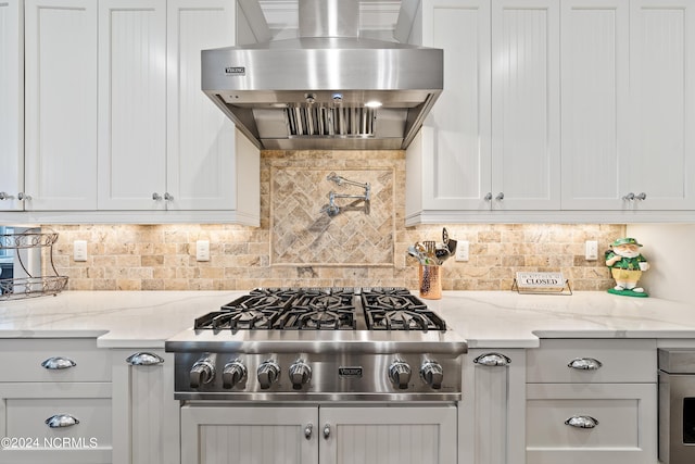
M62 358L67 368L41 365ZM109 350L97 348L91 338L22 338L0 340L0 381L111 381Z

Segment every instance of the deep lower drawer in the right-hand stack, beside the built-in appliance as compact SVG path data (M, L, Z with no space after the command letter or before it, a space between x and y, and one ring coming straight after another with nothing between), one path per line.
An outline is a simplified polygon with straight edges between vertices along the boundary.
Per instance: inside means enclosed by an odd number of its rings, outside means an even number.
M656 462L656 385L530 384L527 463ZM593 428L566 424L589 416Z

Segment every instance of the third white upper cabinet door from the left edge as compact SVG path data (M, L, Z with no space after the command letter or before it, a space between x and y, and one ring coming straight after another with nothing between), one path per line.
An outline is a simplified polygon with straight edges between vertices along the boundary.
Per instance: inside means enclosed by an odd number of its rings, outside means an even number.
M99 1L99 209L166 209L166 0Z

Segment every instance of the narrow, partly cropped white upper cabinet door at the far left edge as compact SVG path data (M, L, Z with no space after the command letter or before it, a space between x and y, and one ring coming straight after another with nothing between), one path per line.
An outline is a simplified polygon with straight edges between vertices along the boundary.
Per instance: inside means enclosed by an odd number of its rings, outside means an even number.
M0 2L0 211L21 211L24 190L22 1Z

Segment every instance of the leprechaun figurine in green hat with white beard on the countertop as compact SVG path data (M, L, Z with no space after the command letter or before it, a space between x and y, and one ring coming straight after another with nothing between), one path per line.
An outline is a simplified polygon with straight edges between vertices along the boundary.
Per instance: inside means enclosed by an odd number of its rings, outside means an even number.
M640 253L642 244L634 238L619 238L606 251L606 265L610 267L616 286L609 293L628 297L648 297L642 287L637 287L642 272L649 268L649 263Z

